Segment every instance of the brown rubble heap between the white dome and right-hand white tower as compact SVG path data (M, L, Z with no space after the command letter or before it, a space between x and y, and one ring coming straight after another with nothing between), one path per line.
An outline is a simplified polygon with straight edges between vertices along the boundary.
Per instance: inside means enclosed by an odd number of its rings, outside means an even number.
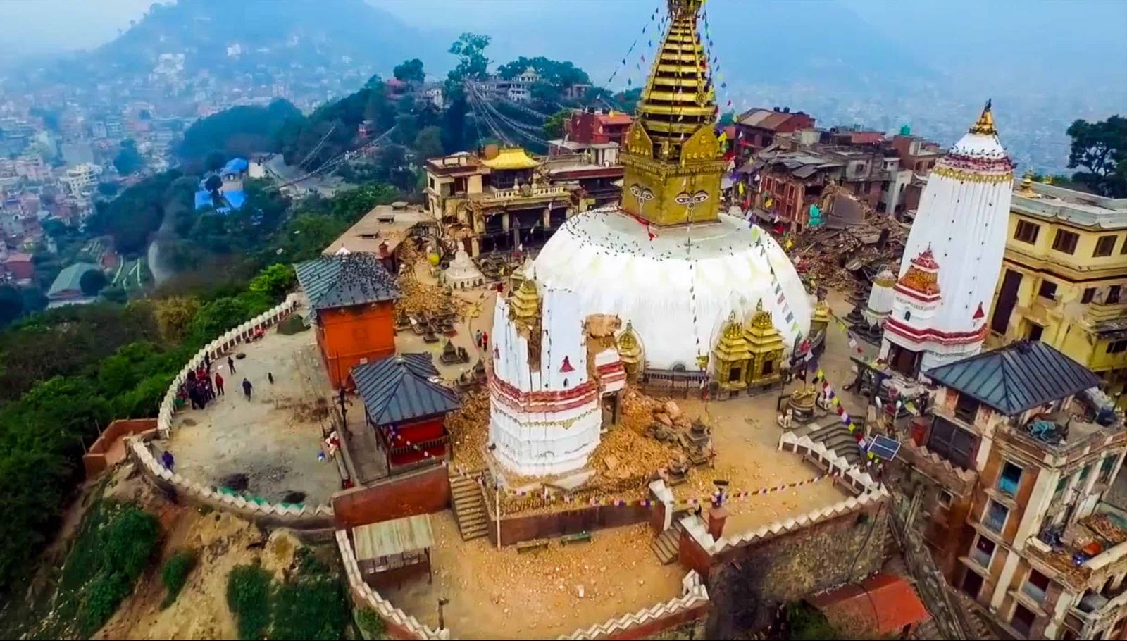
M790 251L798 273L818 286L850 293L872 282L884 267L894 273L904 253L908 225L872 215L846 229L810 231Z

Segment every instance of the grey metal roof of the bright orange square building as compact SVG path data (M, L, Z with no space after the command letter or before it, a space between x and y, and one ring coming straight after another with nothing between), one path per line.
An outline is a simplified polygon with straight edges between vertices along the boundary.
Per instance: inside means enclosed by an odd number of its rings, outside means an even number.
M372 253L322 256L294 265L314 310L393 301L399 286Z

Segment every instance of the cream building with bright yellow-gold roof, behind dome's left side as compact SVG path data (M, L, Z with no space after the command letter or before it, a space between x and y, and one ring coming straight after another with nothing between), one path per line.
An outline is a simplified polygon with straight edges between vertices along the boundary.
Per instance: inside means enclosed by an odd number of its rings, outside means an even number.
M433 158L426 162L425 211L472 257L540 247L587 206L578 182L556 182L542 166L521 148Z

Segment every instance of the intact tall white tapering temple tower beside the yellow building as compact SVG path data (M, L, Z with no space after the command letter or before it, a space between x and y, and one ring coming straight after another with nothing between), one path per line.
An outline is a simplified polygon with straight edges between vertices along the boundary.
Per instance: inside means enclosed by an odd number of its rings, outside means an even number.
M1002 269L1013 163L990 103L928 178L880 356L909 376L982 350Z

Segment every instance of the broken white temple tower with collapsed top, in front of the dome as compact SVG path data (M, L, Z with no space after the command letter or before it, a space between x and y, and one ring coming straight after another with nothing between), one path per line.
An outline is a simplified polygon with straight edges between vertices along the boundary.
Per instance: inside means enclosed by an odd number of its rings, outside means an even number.
M625 384L613 347L588 354L576 294L544 288L541 295L531 278L509 299L497 299L489 442L508 471L580 470L598 445L603 395Z

